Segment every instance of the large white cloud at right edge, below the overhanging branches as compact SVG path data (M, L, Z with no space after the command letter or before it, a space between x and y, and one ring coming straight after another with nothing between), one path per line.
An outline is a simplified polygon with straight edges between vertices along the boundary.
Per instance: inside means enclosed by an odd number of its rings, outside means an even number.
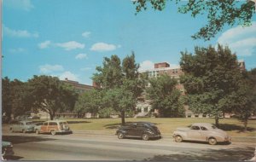
M218 38L218 43L228 45L236 55L253 55L256 48L256 22L252 24L252 26L236 26L229 29Z

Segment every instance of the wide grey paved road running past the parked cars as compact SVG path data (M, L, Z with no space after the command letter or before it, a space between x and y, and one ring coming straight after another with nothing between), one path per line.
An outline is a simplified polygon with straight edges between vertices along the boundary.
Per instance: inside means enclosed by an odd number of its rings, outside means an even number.
M15 160L232 160L253 157L255 142L211 146L198 142L122 139L116 136L3 134L14 143Z

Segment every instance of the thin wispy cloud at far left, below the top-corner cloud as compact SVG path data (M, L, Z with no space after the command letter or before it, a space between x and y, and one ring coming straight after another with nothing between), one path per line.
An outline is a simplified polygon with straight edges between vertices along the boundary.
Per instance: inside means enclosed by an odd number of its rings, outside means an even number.
M14 30L7 26L3 26L3 34L14 38L38 38L38 32L28 32L26 30Z

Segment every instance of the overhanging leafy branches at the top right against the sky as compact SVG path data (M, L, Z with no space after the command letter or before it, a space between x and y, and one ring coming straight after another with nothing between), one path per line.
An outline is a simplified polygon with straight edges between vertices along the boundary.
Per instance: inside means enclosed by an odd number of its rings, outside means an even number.
M172 0L169 0L172 1ZM135 0L137 13L148 8L148 4L155 10L163 10L168 0ZM255 3L253 1L236 0L189 0L187 2L176 0L178 12L181 14L191 13L192 17L207 14L207 25L201 27L192 38L203 38L210 40L220 32L224 26L251 25L253 14L255 14Z

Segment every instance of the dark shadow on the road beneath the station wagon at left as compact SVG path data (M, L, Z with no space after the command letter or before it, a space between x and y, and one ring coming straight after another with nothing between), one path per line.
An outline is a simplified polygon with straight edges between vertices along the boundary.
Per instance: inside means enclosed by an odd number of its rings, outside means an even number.
M52 138L42 138L40 136L2 136L2 141L12 142L13 144L26 143L26 142L44 142L55 140Z

